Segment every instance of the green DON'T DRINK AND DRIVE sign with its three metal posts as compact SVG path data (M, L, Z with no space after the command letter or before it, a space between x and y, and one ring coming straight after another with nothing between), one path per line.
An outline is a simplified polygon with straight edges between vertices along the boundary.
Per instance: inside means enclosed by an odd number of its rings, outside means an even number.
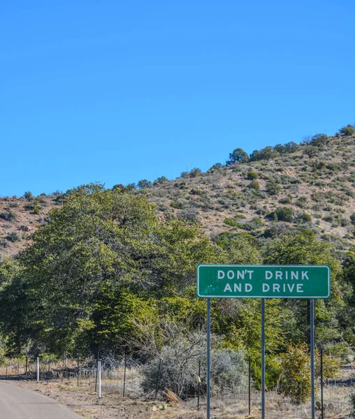
M314 299L331 298L328 265L198 265L198 298L207 298L207 419L210 419L210 299L261 298L261 419L265 419L265 298L310 299L314 419Z

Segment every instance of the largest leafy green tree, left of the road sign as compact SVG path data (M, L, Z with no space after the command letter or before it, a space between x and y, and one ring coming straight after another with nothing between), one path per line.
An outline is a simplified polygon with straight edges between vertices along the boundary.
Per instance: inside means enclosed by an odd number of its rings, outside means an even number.
M143 196L80 186L20 254L21 273L0 294L0 327L13 351L119 350L129 314L184 295L214 249L195 224L159 223Z

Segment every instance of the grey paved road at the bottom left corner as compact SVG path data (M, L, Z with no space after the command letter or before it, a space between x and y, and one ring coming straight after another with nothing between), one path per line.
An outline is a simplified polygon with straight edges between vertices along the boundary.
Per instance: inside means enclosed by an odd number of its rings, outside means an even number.
M1 419L82 419L50 397L0 382Z

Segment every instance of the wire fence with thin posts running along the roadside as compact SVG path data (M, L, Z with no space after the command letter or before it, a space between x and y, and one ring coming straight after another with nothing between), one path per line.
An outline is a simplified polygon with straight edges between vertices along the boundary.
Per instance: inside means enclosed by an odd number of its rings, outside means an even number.
M349 355L318 356L316 362L316 410L319 418L333 418L349 416L353 406L349 397L355 392L355 363ZM325 362L326 360L326 362ZM321 361L323 365L323 379L321 379ZM155 360L157 365L157 360ZM192 367L191 367L192 365ZM39 366L39 369L38 369ZM52 358L42 355L38 359L21 357L3 360L0 367L1 378L7 379L37 379L38 381L56 381L71 383L71 385L88 386L98 390L98 360L94 358L75 359ZM169 365L159 360L157 374L147 379L147 363L142 363L128 354L121 357L101 358L101 391L115 392L124 397L144 399L171 399L176 397L183 400L191 409L205 409L205 365L201 360L189 364L189 375L196 379L193 384L182 383L181 388L169 388L165 378ZM211 365L211 376L214 376L214 365ZM303 419L311 417L310 397L300 397L295 402L290 395L290 386L294 389L303 388L304 381L309 380L308 372L303 376L280 376L277 385L266 392L266 417ZM261 411L261 392L251 377L251 369L241 380L239 385L231 385L223 377L212 382L211 408L214 412L236 414L240 416L259 416ZM287 387L287 389L286 389Z

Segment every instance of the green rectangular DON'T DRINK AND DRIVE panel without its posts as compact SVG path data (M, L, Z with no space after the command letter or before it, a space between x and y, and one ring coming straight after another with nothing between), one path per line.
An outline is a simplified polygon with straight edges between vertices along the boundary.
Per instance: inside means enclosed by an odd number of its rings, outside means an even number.
M330 298L328 265L198 265L197 297Z

